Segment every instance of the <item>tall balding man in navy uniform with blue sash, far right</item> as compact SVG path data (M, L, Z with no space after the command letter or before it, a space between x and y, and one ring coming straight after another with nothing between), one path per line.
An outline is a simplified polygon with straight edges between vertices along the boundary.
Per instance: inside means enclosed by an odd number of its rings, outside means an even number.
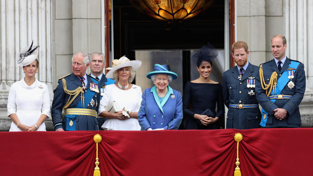
M300 127L299 104L305 92L304 65L286 57L287 42L282 35L271 40L274 59L260 65L256 98L262 106L261 126Z

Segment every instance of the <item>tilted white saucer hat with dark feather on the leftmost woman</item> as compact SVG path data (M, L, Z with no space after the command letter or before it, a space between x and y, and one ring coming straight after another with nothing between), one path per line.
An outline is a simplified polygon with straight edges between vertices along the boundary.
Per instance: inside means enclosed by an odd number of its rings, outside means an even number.
M33 63L38 58L39 45L33 46L34 41L28 47L21 50L20 54L17 56L16 65L18 66L28 66Z

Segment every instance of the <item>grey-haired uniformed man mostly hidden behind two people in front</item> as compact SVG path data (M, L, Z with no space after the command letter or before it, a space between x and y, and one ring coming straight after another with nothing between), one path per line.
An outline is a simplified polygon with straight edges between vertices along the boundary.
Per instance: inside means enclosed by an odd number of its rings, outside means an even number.
M91 54L90 60L90 76L99 80L99 90L100 90L100 100L104 95L104 89L107 85L114 84L115 81L112 79L107 79L106 76L103 74L103 69L105 68L106 64L104 62L104 54L100 52L94 52ZM106 118L98 117L98 126L99 130L102 130L101 126L106 121Z

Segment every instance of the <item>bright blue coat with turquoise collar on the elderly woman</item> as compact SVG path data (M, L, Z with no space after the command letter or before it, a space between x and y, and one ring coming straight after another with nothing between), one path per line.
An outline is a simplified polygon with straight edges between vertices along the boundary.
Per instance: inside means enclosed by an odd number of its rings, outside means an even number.
M142 94L138 121L141 130L148 128L177 130L182 120L182 98L180 92L168 88L162 103L159 103L156 86L147 88Z

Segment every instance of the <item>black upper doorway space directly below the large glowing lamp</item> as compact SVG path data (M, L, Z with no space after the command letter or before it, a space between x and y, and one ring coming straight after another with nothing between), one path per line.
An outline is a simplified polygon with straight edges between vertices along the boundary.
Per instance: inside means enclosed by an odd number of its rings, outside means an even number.
M200 15L180 23L156 20L132 6L113 0L114 58L136 49L199 49L210 42L224 48L224 0L215 0Z

